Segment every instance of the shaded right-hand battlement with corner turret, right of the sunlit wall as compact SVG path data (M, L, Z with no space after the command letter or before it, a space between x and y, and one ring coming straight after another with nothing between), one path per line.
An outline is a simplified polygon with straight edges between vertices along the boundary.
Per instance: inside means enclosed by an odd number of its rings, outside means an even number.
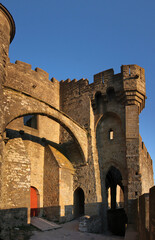
M113 69L108 69L94 75L94 82L88 79L66 79L60 82L61 93L64 100L69 97L77 97L80 93L91 92L92 101L95 93L100 91L106 99L107 90L114 89L118 101L125 105L138 105L139 113L145 106L145 71L138 65L123 65L121 72L114 74Z

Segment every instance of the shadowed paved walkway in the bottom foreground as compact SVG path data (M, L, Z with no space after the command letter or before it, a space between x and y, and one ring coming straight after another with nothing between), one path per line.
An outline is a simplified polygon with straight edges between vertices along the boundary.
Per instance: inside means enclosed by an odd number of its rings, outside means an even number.
M123 237L104 236L102 234L82 233L78 231L78 220L61 224L62 228L45 232L34 231L30 240L124 240Z

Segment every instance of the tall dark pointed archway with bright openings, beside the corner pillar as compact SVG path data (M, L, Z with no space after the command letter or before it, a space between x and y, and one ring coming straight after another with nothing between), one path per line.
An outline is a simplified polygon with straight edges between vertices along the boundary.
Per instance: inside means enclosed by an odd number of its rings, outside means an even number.
M108 229L115 235L125 235L127 216L124 211L124 187L122 175L115 167L110 167L106 179L106 191L108 197Z

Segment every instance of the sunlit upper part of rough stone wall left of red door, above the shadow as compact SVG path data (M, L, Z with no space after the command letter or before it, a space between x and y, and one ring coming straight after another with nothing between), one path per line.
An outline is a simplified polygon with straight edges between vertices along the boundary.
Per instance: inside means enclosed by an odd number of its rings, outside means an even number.
M3 209L29 208L30 159L21 138L9 140L5 147L5 162L2 166Z

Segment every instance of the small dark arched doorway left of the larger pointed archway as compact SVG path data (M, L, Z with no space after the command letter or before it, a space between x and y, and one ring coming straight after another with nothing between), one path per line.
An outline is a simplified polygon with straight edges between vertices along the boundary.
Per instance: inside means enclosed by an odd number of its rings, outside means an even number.
M74 192L74 217L84 215L84 192L81 188L77 188Z

